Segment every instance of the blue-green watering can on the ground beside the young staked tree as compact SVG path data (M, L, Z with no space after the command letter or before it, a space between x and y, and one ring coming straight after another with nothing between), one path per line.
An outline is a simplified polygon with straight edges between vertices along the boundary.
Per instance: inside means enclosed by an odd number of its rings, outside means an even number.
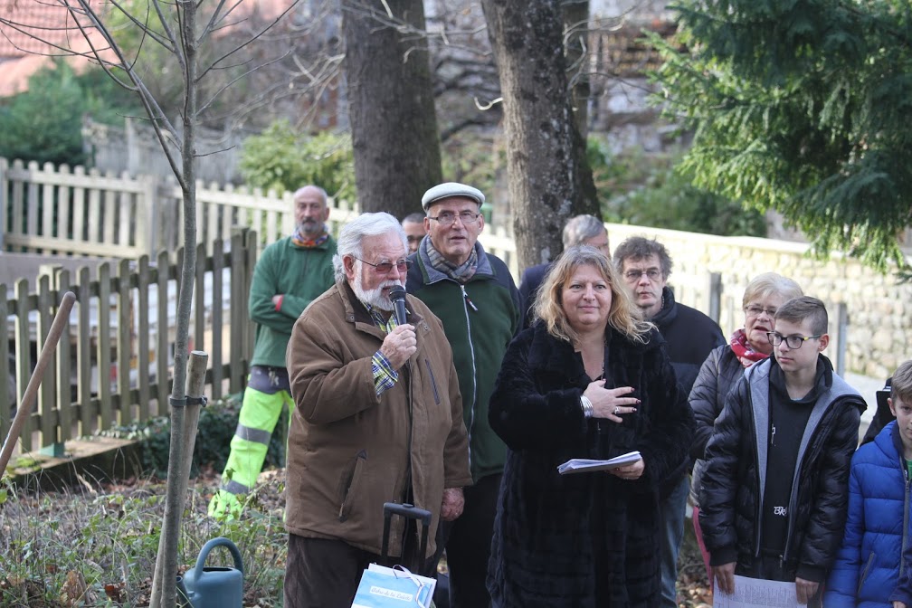
M234 567L206 566L209 551L227 547ZM202 546L196 566L177 577L177 599L181 608L241 608L244 604L244 563L241 551L224 537Z

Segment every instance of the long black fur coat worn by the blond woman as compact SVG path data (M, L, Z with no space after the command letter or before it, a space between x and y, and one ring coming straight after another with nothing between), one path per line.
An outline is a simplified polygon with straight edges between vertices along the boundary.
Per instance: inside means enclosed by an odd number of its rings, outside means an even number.
M606 377L641 400L623 424L583 416L583 360L543 325L518 335L503 358L489 412L509 448L488 566L500 608L655 604L658 488L687 458L693 417L656 332L643 345L609 327ZM636 481L557 473L566 459L634 449L646 467Z

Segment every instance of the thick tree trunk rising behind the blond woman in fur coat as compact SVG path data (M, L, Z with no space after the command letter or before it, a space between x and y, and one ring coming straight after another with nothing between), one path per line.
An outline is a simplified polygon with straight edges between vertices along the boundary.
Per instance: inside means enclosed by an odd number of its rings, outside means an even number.
M503 92L507 179L520 267L561 251L576 213L598 216L567 92L560 0L482 0Z

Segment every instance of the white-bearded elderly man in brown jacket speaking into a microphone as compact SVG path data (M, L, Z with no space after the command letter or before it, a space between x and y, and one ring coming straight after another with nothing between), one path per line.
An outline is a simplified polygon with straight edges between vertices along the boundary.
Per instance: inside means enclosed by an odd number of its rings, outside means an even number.
M340 232L336 285L295 323L287 366L295 413L288 436L285 606L350 606L379 559L383 503L433 514L430 539L457 518L472 484L459 380L440 320L407 297L397 325L389 297L405 283L405 232L365 213ZM393 520L390 555L415 556L415 525Z

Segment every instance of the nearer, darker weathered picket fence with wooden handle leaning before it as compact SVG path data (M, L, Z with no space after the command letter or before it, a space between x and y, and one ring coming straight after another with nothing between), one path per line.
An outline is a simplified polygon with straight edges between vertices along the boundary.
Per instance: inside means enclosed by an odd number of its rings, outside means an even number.
M227 246L226 246L227 245ZM253 352L254 325L247 295L256 261L257 234L235 231L229 241L212 242L213 252L197 245L197 270L191 319L192 348L209 354L207 393L212 398L240 391ZM171 252L173 253L173 252ZM171 259L173 257L173 259ZM173 342L183 250L167 250L135 260L98 264L76 273L57 269L0 284L0 316L9 340L0 355L13 362L0 374L0 436L25 392L63 294L77 304L42 379L38 403L21 435L24 451L62 444L98 430L145 421L167 411L173 383Z

